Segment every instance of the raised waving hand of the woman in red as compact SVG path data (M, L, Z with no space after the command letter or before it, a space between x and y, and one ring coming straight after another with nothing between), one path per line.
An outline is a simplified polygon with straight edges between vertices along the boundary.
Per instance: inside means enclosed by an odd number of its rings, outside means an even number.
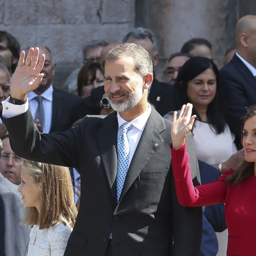
M173 113L171 137L174 149L184 145L185 138L188 136L188 133L192 129L196 118L196 115L191 116L192 108L193 105L188 103L187 105L182 106L179 117L177 117L177 111Z

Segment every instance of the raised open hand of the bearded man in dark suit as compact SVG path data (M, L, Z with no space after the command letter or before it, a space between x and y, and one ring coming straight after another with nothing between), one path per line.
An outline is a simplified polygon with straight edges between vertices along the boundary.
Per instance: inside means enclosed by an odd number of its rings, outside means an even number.
M39 48L30 48L26 60L25 52L22 51L19 57L18 66L11 78L11 97L24 100L26 94L35 90L42 81L44 74L41 73L44 67L45 55L42 54L38 61Z

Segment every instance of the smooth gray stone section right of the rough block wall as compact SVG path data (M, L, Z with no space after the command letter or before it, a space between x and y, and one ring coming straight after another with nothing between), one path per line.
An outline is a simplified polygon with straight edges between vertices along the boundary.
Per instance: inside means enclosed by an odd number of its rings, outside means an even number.
M195 37L211 42L215 63L220 68L226 49L234 44L238 12L238 0L136 0L135 25L144 24L157 35L161 57L158 76L163 79L162 70L169 55Z

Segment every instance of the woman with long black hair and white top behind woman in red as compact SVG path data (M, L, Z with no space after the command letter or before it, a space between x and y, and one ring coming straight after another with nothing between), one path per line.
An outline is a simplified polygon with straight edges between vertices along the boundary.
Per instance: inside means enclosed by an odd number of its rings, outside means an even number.
M226 124L218 68L205 57L192 57L181 68L174 84L174 110L191 102L196 115L192 133L198 159L220 172L236 168L243 161L243 151L237 151L235 136ZM172 120L173 112L166 116Z

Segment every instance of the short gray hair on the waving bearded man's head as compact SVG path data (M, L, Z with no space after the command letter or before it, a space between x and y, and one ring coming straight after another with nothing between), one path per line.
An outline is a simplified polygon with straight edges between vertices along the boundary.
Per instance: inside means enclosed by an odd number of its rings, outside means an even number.
M141 77L147 73L153 74L153 64L150 54L140 45L125 43L117 45L109 51L108 60L118 60L123 57L132 57L134 60L134 70Z

